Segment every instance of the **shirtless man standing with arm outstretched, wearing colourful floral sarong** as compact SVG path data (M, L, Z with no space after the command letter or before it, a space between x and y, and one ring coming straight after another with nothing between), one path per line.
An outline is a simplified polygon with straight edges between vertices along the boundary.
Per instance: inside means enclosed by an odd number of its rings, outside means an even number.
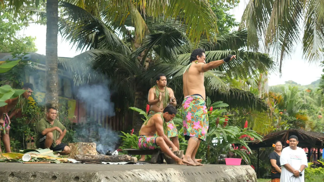
M189 65L182 77L184 94L182 102L183 135L188 140L186 154L182 161L188 165L202 165L196 161L195 157L200 142L206 140L208 131L204 72L217 68L233 58L236 59L236 56L230 54L225 59L206 63L206 55L203 49L196 49L191 53Z

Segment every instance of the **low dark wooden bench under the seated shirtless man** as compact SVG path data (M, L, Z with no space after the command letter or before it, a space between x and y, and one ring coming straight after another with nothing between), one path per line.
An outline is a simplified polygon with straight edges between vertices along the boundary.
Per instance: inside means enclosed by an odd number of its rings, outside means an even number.
M163 153L160 149L141 150L141 149L124 149L128 155L152 155L151 164L163 164Z

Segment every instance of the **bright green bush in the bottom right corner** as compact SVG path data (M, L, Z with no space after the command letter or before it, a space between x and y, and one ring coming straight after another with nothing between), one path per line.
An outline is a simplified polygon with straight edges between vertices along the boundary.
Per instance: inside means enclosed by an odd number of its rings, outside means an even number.
M322 166L324 166L324 162L319 161ZM308 167L305 168L305 182L310 181L323 181L324 179L324 167L317 167L313 163L308 163Z

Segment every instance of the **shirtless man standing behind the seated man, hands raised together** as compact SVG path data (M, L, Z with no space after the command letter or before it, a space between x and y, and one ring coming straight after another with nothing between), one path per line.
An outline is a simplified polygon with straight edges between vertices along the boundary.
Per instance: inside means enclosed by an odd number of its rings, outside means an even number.
M147 102L151 106L148 118L158 112L162 112L168 104L177 106L173 90L167 87L167 77L164 74L156 75L156 85L148 91ZM178 130L172 120L167 123L168 137L172 143L179 149ZM145 161L145 155L141 155L139 161Z

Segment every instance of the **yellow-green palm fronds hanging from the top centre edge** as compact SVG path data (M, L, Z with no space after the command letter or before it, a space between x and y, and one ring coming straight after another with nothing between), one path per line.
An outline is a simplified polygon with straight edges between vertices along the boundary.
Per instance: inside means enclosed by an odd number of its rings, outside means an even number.
M134 10L133 6L136 7L135 9L138 10L139 14L143 15L143 19L145 19L146 16L159 18L161 15L164 15L166 19L180 19L187 25L186 32L189 39L195 43L199 42L203 34L206 34L210 39L215 38L217 32L217 18L211 10L208 0L116 0L110 1L110 11L108 13L110 16L117 19L123 17L123 20L128 16L137 17L137 14L132 12ZM139 19L139 17L137 19ZM137 31L136 26L138 26L138 33L142 33L142 35L138 34L138 36L144 38L145 32L142 30L144 30L145 24L143 21L136 22L138 25L135 25L135 31Z

